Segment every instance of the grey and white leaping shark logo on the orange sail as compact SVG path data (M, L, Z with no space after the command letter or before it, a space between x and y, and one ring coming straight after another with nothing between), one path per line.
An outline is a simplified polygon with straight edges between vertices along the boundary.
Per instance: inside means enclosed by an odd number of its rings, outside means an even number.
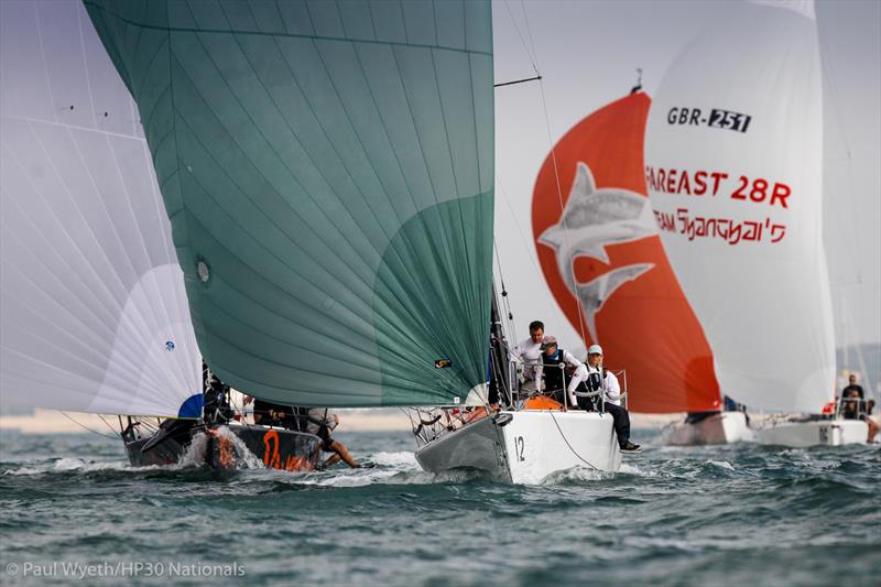
M598 188L590 167L578 162L566 207L559 221L539 237L554 249L557 268L566 287L581 305L592 340L598 340L596 315L614 292L650 271L654 263L614 268L587 282L575 276L575 260L592 257L610 264L606 247L657 233L649 199L619 187Z

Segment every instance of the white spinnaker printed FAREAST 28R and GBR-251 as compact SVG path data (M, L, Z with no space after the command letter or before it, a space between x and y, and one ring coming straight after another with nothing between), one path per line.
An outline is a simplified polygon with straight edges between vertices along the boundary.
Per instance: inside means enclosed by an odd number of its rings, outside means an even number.
M652 105L645 174L724 394L818 412L835 385L813 6L737 3Z

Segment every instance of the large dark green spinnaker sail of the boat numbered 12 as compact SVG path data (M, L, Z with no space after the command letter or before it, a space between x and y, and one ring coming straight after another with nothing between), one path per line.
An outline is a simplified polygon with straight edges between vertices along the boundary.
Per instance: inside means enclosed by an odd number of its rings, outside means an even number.
M298 405L454 403L486 381L488 1L85 3L213 370Z

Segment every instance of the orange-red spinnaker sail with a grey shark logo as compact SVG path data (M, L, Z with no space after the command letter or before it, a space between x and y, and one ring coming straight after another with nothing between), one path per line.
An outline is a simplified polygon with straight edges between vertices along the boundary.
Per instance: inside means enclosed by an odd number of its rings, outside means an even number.
M649 204L650 104L630 95L561 139L535 182L533 238L545 280L585 345L602 345L607 366L627 369L631 410L718 410L713 354Z

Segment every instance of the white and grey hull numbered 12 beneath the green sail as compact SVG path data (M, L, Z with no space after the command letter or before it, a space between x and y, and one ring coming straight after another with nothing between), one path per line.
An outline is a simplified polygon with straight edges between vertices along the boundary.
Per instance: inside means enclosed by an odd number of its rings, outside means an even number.
M621 453L611 414L595 412L502 412L511 420L483 418L416 450L429 472L477 469L514 483L539 483L575 467L617 471Z

